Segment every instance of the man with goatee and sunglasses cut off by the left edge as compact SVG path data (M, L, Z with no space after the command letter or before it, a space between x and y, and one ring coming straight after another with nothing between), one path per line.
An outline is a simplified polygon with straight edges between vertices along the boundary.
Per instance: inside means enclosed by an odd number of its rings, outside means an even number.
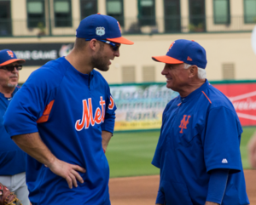
M25 60L9 49L0 50L0 183L15 192L23 205L30 204L26 186L26 153L10 139L3 127L3 115L20 87L19 71Z

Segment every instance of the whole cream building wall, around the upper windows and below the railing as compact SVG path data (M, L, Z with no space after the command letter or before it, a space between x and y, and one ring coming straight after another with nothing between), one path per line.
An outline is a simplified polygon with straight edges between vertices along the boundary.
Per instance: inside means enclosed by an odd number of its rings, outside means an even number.
M106 1L98 1L98 12L106 14ZM155 0L155 14L158 18L159 31L164 31L164 3L163 0ZM206 14L207 16L213 15L213 0L206 1ZM47 10L48 5L45 4ZM55 28L52 30L53 33L61 34L72 34L77 26L79 26L80 8L79 0L72 0L72 14L73 14L73 27L67 29ZM53 0L50 0L50 4L53 6ZM53 8L53 7L52 7ZM12 0L11 11L13 20L24 20L24 23L15 23L13 25L14 35L21 32L21 28L26 28L26 0ZM129 22L132 19L137 18L137 0L124 0L124 14L125 14L125 26L130 26ZM230 14L235 18L236 16L242 17L243 15L243 0L230 0ZM50 11L51 17L54 16L53 9ZM45 14L48 17L48 14ZM182 21L183 31L188 31L189 26L189 0L181 0L181 16L184 17ZM162 21L161 21L162 20ZM18 21L17 21L18 22ZM21 22L21 21L20 21ZM46 22L48 24L48 22ZM232 24L232 19L231 19ZM242 24L242 22L241 22ZM244 25L247 30L253 29L252 25ZM208 22L207 29L214 31L215 25L212 22ZM225 26L223 26L225 28ZM225 29L232 29L226 27ZM38 30L24 30L26 36L35 35ZM46 31L47 32L47 31ZM159 35L131 35L125 36L135 44L132 46L122 45L120 48L120 57L113 60L110 70L103 72L102 75L107 78L109 83L122 83L122 67L123 66L135 66L136 67L136 82L143 83L143 66L154 65L155 67L155 79L156 82L164 82L165 77L160 75L160 71L164 64L154 62L151 60L153 55L166 54L167 48L172 41L183 38L195 40L206 48L207 50L207 77L209 80L222 80L222 65L225 63L232 63L236 69L236 79L256 79L256 71L253 71L253 65L256 63L256 56L253 54L251 47L251 33L200 33L200 34L159 34ZM75 37L10 37L1 38L0 43L73 43ZM32 71L37 67L25 67L20 71L20 83L24 83L26 78Z

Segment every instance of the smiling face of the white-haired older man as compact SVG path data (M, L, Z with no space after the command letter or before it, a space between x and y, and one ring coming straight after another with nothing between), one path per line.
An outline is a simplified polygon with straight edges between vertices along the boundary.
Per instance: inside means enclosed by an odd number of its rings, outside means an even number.
M166 87L181 92L189 84L189 69L184 64L166 64L162 75L166 76Z

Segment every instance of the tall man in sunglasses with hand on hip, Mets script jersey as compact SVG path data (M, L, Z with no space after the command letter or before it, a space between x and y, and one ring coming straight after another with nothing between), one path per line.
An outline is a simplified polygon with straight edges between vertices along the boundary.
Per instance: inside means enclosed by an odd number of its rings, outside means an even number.
M100 72L119 57L121 37L113 17L80 22L74 48L27 79L9 105L4 125L26 151L32 205L109 205L108 160L116 106Z

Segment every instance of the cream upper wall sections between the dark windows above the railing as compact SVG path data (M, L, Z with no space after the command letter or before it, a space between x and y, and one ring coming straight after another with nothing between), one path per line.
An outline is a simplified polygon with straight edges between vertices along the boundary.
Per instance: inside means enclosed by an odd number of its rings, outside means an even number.
M98 1L98 12L106 14L106 0ZM80 21L80 0L72 0L72 27L60 27L54 26L54 0L50 2L50 17L51 30L53 35L73 35ZM13 34L14 36L34 36L37 35L38 28L28 29L26 25L26 0L11 0ZM182 19L182 31L189 31L189 0L180 0L181 5L181 17ZM237 30L252 30L253 24L245 24L243 20L243 0L230 0L230 25L215 25L213 18L213 0L206 0L206 17L207 17L207 31L237 31ZM48 14L48 1L45 1L45 17L46 17L46 34L49 34L49 14ZM130 28L131 24L137 22L137 0L124 0L124 16L125 16L125 30ZM164 0L155 0L155 16L157 22L157 30L164 32ZM150 32L152 29L150 26L143 26L143 32Z

